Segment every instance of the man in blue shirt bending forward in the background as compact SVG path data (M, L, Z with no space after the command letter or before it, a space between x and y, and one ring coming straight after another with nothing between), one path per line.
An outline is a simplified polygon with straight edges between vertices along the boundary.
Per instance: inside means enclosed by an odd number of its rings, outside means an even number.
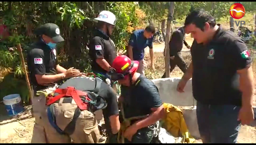
M153 35L156 32L154 26L147 26L145 30L139 29L132 33L129 45L127 47L127 54L131 60L139 61L138 72L144 74L144 49L149 47L149 54L151 59L151 67L154 67L154 51L153 51Z

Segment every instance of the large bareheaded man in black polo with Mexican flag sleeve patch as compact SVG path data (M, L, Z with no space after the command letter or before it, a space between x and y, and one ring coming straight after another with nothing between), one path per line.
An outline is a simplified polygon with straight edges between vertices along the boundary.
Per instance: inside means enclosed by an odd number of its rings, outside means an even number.
M235 143L242 124L253 121L251 57L244 42L216 25L205 11L192 11L185 32L195 41L192 62L180 80L183 89L192 77L197 122L203 143Z

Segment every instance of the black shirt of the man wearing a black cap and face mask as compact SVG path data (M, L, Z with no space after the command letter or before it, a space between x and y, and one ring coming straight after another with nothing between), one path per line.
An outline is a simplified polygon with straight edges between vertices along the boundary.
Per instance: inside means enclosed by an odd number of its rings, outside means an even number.
M58 64L55 49L51 49L42 40L31 46L27 56L28 71L33 88L36 90L54 86L54 83L38 84L35 75L55 75Z

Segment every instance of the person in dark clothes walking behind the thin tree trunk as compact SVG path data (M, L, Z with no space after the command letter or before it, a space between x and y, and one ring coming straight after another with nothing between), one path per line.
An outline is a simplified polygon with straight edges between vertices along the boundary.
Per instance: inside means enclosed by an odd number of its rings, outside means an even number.
M175 30L172 33L171 40L169 42L169 49L170 49L170 73L172 70L178 65L183 73L188 69L188 66L184 59L181 56L180 51L183 48L183 43L187 48L190 48L188 43L185 41L185 31L184 26L180 27L179 29ZM164 52L165 54L165 52ZM165 78L165 72L162 78Z

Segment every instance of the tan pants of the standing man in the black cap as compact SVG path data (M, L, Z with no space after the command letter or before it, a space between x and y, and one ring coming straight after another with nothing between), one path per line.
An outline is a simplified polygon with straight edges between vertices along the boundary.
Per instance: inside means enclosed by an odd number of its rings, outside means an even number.
M58 85L56 84L53 87L49 87L43 91L47 94L51 93L52 91L55 91ZM44 132L44 121L45 118L43 118L43 114L46 113L46 97L43 93L40 93L40 95L37 97L34 95L34 90L32 89L33 99L32 99L32 109L33 109L33 115L35 117L35 125L33 129L33 135L31 139L31 143L47 143L46 136ZM45 115L44 115L45 116Z

